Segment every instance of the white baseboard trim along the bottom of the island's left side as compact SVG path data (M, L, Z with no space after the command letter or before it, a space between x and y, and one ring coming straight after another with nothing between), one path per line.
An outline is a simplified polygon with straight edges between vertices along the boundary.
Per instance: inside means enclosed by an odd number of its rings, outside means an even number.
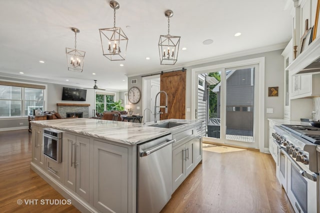
M42 168L40 168L33 162L30 163L30 168L37 175L39 175L46 183L48 183L54 190L60 193L62 197L64 197L66 200L71 200L71 204L81 213L99 213L98 210L93 209L89 204L86 203L86 201L82 200L74 192L67 189L59 181L47 175Z

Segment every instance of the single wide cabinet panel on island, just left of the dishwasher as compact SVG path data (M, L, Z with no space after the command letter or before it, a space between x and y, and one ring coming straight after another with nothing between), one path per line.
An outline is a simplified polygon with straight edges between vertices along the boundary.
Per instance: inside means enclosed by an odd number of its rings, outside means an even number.
M128 148L94 140L93 164L93 206L128 212Z

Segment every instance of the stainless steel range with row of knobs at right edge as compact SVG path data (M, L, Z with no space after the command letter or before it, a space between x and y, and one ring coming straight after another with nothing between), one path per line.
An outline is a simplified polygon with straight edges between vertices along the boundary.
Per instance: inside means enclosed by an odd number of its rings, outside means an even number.
M319 213L320 128L273 127L278 145L277 178L296 213Z

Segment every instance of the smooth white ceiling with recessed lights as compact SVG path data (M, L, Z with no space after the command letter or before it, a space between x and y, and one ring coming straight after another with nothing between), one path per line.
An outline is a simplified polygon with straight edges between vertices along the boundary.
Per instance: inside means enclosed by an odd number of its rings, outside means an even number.
M280 44L291 37L291 15L285 5L291 0L117 1L115 25L129 38L124 61L102 55L98 29L113 26L109 0L1 0L0 76L79 87L93 87L96 79L99 88L126 90L126 76L182 68L192 61ZM170 34L181 36L174 66L159 62L157 42L159 35L167 34L166 9L173 10ZM77 49L85 51L82 73L67 70L65 47L74 48L71 27L80 30ZM242 34L235 37L236 32ZM203 45L206 39L213 43Z

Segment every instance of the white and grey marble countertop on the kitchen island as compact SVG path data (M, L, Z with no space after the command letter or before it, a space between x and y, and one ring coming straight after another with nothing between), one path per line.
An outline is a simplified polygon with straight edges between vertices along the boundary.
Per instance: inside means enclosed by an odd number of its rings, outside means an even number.
M100 138L129 145L138 144L169 133L179 132L179 130L181 131L184 128L191 128L192 126L201 123L201 121L183 119L161 120L158 123L166 121L183 122L186 124L167 129L148 126L154 124L153 122L142 125L140 123L88 118L31 121L31 123L44 128L78 133L98 139Z

